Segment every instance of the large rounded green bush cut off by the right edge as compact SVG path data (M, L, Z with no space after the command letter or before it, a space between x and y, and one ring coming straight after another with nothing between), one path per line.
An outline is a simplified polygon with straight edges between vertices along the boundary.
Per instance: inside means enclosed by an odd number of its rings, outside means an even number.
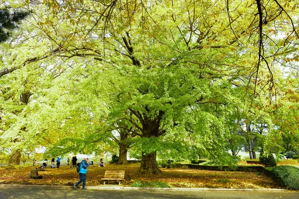
M291 190L299 190L299 168L282 165L272 169L271 176L281 185Z

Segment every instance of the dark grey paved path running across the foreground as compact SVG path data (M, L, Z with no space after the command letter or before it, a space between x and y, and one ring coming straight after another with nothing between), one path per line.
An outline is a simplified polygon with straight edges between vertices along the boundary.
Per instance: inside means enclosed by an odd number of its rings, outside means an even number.
M71 187L55 189L50 186L1 185L0 199L299 199L299 192L282 190L259 192L108 188L73 190Z

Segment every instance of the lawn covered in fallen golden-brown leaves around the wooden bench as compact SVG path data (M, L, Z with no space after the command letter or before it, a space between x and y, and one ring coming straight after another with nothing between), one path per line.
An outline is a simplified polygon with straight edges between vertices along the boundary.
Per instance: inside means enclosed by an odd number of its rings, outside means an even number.
M180 188L256 188L256 189L284 189L275 183L271 177L256 172L206 171L198 169L161 169L160 175L139 175L140 164L116 165L106 164L106 167L88 167L86 186L103 185L101 180L105 170L125 170L125 180L122 185L131 187L136 181L164 182L171 187ZM62 185L72 186L79 180L76 169L60 166L59 169L39 171L41 180L30 180L29 172L34 167L20 167L19 169L0 168L0 184L13 185ZM117 185L116 181L108 184Z

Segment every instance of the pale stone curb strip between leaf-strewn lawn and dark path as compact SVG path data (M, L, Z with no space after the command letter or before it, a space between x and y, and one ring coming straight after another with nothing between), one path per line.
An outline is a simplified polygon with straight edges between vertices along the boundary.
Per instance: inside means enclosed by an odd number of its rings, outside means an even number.
M5 185L0 184L0 187L23 187L23 188L52 188L52 189L73 189L73 186L50 186L50 185ZM245 192L288 192L296 190L286 189L225 189L225 188L137 188L137 187L122 187L122 186L95 186L88 187L90 190L152 190L152 191L245 191Z

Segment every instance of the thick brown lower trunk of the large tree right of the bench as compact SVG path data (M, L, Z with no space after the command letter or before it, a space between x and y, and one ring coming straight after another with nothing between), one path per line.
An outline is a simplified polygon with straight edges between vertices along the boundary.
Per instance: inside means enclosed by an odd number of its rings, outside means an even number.
M157 167L156 152L145 155L142 154L141 165L139 168L141 174L160 174L161 170Z

